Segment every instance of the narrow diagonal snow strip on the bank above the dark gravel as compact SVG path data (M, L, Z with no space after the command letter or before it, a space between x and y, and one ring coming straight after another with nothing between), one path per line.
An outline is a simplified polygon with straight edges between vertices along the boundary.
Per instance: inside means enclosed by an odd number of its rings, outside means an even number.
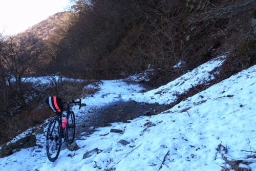
M142 95L140 93L136 93L133 99L139 102L170 104L176 100L178 94L186 92L197 84L202 84L214 79L213 73L210 74L209 72L221 66L224 60L225 56L217 57L191 72L182 75L176 80L169 82L165 86L148 91ZM126 99L128 98L130 97L126 97Z

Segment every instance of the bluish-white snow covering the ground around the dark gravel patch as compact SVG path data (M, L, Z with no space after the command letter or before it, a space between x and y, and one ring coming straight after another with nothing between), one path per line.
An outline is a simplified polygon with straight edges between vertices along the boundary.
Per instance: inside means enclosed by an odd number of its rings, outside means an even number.
M82 99L87 106L80 111L74 106L77 123L91 108L113 101L170 104L177 98L175 95L184 93L192 87L191 84L196 86L214 79L211 71L218 72L223 60L225 56L206 62L165 86L145 93L139 93L143 90L139 84L102 80L97 87L100 91ZM1 158L0 170L221 170L221 166L231 169L216 149L219 144L227 147L224 156L228 160L245 160L248 155L253 155L241 150L255 151L256 148L255 71L256 66L252 66L161 114L100 127L92 135L76 140L80 147L77 151L63 147L55 162L50 162L46 156L45 128L45 134L36 135L38 146ZM120 129L123 133L110 133L111 129ZM118 143L120 140L130 144L122 145ZM94 148L102 152L82 159L84 153ZM248 166L241 163L240 167L255 171L256 160L247 160L253 163Z

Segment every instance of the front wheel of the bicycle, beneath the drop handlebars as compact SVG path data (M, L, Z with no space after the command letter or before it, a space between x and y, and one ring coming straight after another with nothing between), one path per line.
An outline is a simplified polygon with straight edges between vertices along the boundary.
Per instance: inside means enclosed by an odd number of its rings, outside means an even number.
M66 140L67 145L71 145L74 142L76 131L75 114L73 111L68 112L67 119L68 124L66 126Z

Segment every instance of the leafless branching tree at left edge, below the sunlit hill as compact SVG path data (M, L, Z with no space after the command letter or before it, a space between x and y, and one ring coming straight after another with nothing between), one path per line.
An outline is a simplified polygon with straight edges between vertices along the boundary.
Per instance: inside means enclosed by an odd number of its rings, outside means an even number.
M33 74L35 63L41 53L37 41L31 43L31 37L28 40L17 40L11 37L2 42L0 49L1 76L3 86L8 87L21 105L26 106L24 84L26 78Z

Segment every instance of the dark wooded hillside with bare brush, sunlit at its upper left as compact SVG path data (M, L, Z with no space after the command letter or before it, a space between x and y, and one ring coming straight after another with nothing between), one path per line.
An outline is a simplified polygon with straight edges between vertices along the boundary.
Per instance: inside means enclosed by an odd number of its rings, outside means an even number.
M157 87L225 52L227 76L252 66L255 7L254 0L76 1L72 11L50 16L18 37L44 40L47 69L38 75L113 79L151 66L150 86ZM180 61L185 65L173 69Z

